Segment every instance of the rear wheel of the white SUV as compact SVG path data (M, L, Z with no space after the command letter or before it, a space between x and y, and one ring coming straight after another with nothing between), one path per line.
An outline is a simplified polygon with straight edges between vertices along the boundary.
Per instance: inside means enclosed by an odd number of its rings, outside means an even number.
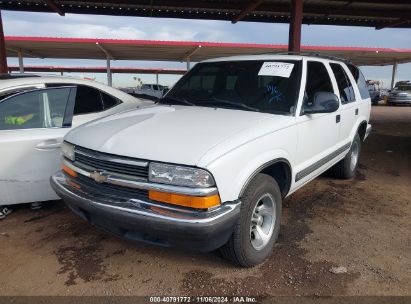
M336 178L350 179L354 177L358 167L358 160L361 153L361 138L358 133L351 144L350 151L333 167L333 174Z

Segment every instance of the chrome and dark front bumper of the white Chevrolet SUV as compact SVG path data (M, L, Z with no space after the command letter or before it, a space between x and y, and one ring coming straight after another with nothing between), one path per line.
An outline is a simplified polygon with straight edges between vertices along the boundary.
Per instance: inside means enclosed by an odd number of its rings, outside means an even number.
M74 213L94 226L121 238L166 247L215 250L228 241L240 214L240 202L199 211L92 193L62 172L54 174L50 183Z

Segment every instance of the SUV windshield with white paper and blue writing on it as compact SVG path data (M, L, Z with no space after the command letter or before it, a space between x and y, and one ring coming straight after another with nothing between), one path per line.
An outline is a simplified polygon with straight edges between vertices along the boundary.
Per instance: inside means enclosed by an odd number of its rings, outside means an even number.
M160 103L294 114L301 61L197 64Z

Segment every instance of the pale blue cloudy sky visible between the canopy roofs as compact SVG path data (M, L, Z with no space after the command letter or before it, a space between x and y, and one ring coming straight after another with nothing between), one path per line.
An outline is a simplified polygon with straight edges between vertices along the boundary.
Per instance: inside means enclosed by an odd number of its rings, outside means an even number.
M118 17L55 13L3 11L6 36L44 36L72 38L148 39L178 41L209 41L237 43L288 43L288 24L167 18ZM411 29L375 30L366 27L303 25L302 44L318 46L388 47L411 49ZM18 64L8 58L9 64ZM61 60L24 58L25 64L105 66L103 60ZM185 68L181 62L114 61L112 66ZM367 79L390 86L392 66L361 67ZM106 82L105 74L71 74ZM134 77L144 83L155 83L154 75L114 74L114 86L136 85ZM160 84L172 85L179 76L160 75ZM411 79L411 63L398 65L397 80Z

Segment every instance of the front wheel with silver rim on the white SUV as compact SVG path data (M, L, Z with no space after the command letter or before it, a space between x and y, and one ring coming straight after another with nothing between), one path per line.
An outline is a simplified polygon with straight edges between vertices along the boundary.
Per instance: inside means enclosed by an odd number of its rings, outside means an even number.
M280 231L281 191L271 176L258 174L241 199L240 218L222 255L242 267L253 267L267 259Z

